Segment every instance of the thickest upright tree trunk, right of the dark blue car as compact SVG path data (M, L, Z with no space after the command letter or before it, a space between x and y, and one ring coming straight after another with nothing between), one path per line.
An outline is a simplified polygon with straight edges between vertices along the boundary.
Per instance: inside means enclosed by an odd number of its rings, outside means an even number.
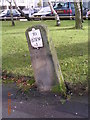
M75 6L75 28L82 29L82 17L81 17L81 9L80 9L80 2L74 2Z

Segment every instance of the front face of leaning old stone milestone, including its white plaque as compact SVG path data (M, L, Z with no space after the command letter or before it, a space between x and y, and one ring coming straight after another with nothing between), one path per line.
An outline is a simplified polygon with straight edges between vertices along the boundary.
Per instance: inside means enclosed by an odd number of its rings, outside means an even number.
M59 77L47 29L44 25L32 26L26 30L26 38L37 87L40 91L50 91L59 84Z

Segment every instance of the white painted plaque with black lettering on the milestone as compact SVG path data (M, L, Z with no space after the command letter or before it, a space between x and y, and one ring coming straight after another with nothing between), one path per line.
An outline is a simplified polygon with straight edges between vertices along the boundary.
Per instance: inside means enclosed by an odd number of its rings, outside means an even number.
M33 28L32 31L28 32L28 34L32 47L34 48L43 47L42 37L39 29L35 30Z

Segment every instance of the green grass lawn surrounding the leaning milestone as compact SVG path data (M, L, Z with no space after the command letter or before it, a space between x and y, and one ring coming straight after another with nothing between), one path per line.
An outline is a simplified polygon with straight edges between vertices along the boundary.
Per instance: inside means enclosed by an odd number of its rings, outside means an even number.
M10 21L2 22L2 69L16 75L33 76L25 31L35 24L45 24L52 37L64 79L70 83L86 83L88 73L88 21L83 30L74 29L75 21Z

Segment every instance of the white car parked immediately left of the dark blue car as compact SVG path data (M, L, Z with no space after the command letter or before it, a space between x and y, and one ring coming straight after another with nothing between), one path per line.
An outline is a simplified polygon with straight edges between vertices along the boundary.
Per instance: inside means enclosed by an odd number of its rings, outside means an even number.
M49 6L41 8L41 10L35 14L34 17L49 16L51 14L51 9Z

